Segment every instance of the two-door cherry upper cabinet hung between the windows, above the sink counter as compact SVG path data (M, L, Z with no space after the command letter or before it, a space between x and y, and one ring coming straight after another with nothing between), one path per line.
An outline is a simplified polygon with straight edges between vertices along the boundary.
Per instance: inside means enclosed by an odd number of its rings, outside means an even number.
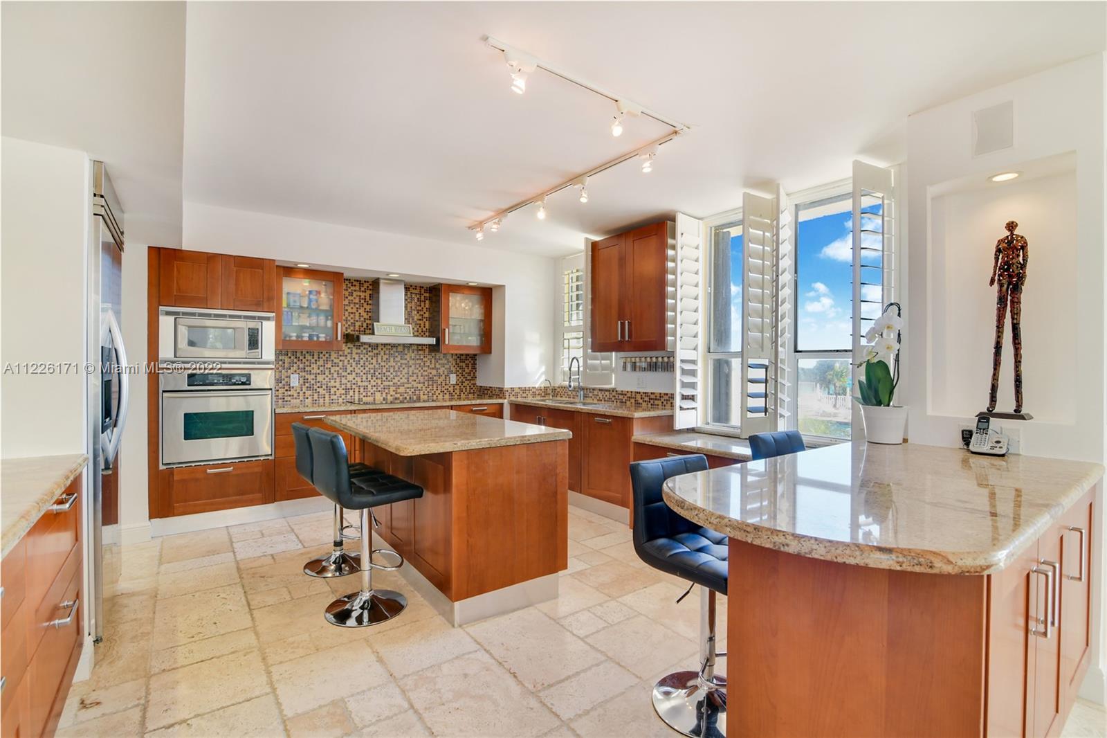
M669 233L662 222L592 242L593 351L665 350Z

